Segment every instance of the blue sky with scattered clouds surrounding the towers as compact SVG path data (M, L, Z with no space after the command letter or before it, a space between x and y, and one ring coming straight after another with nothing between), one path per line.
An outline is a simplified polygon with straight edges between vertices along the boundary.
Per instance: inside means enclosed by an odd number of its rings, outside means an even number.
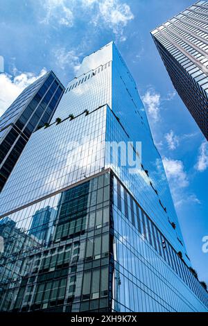
M53 69L62 83L83 57L114 40L143 98L170 182L193 267L208 283L208 145L171 84L150 30L190 0L1 0L0 113L28 83Z

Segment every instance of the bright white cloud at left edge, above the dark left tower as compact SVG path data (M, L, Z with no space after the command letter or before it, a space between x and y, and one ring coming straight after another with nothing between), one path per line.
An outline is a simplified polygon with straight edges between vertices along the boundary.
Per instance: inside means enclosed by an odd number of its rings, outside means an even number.
M37 76L31 72L19 72L15 77L9 74L0 74L0 116L15 101L15 98L24 90L25 87L34 83L46 73L45 69L40 71Z

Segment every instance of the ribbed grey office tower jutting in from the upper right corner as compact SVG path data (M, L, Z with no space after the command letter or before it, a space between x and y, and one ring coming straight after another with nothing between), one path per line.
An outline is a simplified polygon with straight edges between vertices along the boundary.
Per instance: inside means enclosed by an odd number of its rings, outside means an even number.
M177 93L208 139L208 1L151 32Z

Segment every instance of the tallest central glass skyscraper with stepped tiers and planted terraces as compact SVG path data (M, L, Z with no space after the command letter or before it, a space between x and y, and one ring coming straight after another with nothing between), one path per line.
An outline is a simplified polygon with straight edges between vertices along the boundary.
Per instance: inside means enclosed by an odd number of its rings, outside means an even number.
M1 192L1 218L29 239L35 212L49 207L49 241L2 254L1 311L207 311L144 106L112 42L84 58Z

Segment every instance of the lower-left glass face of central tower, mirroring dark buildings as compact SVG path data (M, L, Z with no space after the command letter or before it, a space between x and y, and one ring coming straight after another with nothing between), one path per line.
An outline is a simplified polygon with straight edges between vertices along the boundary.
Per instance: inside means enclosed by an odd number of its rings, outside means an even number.
M110 207L105 173L3 218L1 311L110 310Z

